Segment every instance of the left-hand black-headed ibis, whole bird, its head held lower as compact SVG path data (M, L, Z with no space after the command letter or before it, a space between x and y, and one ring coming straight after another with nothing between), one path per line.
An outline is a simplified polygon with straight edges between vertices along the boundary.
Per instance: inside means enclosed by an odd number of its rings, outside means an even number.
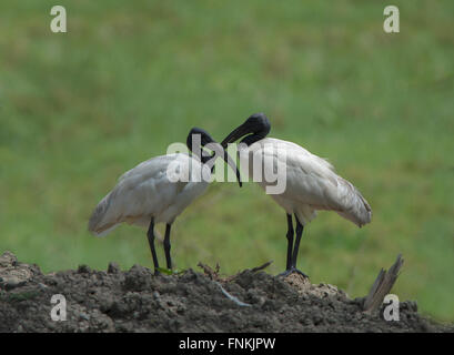
M216 158L221 156L236 172L241 187L240 172L235 163L206 131L192 129L186 145L193 152L192 155L185 153L161 155L125 172L117 186L101 200L89 221L89 231L98 236L105 235L122 222L148 227L147 235L155 274L159 274L159 262L154 248L154 224L160 222L167 224L163 244L167 267L172 268L170 256L172 223L206 190L209 184L206 176L211 176ZM212 155L208 155L202 149L205 145L213 151ZM179 173L179 176L188 179L175 179L171 173Z

